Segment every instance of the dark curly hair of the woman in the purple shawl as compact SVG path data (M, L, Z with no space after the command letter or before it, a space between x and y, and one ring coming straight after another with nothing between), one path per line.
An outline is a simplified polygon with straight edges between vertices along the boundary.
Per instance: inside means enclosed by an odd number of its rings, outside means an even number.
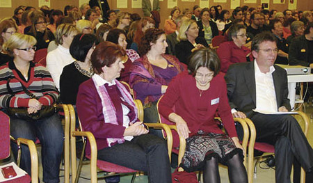
M165 32L163 30L157 28L147 29L143 38L141 38L141 42L139 43L138 51L141 56L147 54L148 51L151 49L150 43L157 42L162 34Z

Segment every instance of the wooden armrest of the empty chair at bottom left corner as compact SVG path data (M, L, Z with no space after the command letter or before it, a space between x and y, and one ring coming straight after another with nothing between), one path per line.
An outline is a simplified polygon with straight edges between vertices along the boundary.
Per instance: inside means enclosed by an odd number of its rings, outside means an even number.
M38 182L38 154L35 143L26 138L17 138L17 145L20 143L29 146L29 152L31 155L31 182Z

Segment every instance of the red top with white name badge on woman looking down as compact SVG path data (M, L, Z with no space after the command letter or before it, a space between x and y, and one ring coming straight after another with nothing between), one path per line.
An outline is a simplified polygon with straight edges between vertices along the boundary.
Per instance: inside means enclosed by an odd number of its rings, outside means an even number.
M204 90L201 96L192 75L188 72L178 74L172 79L159 102L159 112L168 119L170 113L174 112L172 110L174 105L175 113L187 122L191 131L190 136L199 130L223 134L214 121L216 111L218 111L229 136L237 136L228 104L226 83L222 74L218 74L211 80L209 89Z

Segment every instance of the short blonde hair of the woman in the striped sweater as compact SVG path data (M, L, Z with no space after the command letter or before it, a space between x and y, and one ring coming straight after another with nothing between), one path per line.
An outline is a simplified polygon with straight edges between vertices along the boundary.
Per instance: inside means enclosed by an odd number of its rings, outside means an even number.
M4 43L3 50L6 50L6 53L10 56L14 56L13 49L22 48L25 45L35 45L36 43L37 40L31 35L14 33L8 41Z

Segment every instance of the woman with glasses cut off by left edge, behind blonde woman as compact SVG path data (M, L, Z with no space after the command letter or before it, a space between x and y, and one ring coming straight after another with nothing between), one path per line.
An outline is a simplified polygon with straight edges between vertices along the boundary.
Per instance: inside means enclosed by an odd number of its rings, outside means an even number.
M3 49L3 44L8 41L8 39L16 33L17 25L12 18L3 19L0 22L0 65L7 63L8 61L13 61L13 57L8 55L8 51Z

